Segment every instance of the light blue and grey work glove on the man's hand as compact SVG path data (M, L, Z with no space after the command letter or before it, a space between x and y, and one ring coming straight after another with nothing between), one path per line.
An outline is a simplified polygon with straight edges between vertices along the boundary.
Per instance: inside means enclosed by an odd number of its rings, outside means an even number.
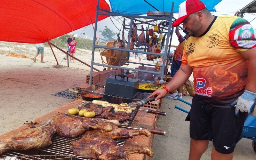
M231 106L235 106L235 115L237 116L240 112L247 112L250 114L252 112L252 108L255 105L256 93L244 90L244 93L238 97L236 101L234 101Z

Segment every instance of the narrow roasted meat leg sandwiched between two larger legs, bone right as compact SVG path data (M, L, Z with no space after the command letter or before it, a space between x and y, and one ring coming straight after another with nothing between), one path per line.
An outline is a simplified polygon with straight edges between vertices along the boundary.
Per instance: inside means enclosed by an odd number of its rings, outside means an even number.
M85 131L85 134L97 136L97 137L109 137L113 140L133 138L134 136L137 136L137 135L145 135L148 138L151 137L151 132L146 129L130 130L130 129L126 129L126 128L119 128L115 124L113 124L112 127L113 127L113 130L110 132L105 132L105 131L101 131L101 130L87 130L87 131Z

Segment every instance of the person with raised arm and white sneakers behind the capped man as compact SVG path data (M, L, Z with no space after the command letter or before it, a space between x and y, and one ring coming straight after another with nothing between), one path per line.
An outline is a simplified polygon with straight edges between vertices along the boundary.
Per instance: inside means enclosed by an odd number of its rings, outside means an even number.
M176 72L179 70L181 65L181 59L182 59L182 52L184 50L184 45L189 38L189 36L186 34L185 38L181 36L179 27L175 28L175 33L177 37L179 38L180 44L177 46L176 50L174 50L173 58L172 58L172 65L171 65L171 77L173 77ZM179 93L175 89L172 91L172 95L168 96L167 98L176 100L177 98L182 99L182 87L183 84L179 87Z

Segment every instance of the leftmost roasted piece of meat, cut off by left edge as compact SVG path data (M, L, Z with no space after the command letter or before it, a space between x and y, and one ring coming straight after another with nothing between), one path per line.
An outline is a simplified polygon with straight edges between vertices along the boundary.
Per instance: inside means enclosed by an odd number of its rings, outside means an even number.
M52 144L54 127L25 128L10 138L0 140L0 154L8 150L27 150L44 148Z

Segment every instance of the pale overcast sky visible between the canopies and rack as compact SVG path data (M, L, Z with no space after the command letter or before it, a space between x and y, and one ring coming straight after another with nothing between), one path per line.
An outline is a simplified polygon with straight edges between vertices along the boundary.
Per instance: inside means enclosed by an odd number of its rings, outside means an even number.
M108 2L108 0L106 0L106 1ZM251 2L252 2L252 0L222 0L219 4L217 4L215 6L215 9L217 12L212 12L212 15L217 15L217 16L234 15L236 11L239 11L245 5L247 5ZM174 13L174 17L178 18L178 13ZM256 19L254 19L255 17L256 17L256 14L249 14L249 13L244 14L244 19L248 20L252 24L252 26L254 26L254 28L256 27ZM114 21L117 28L120 29L121 24L119 22L115 21L114 18L112 18L112 20ZM97 34L100 34L99 31L103 30L105 28L104 26L108 26L108 28L110 28L114 32L119 32L118 29L114 26L114 24L110 20L110 18L106 18L106 19L98 22ZM85 33L85 35L93 37L94 31L93 31L92 25L86 26L84 28L80 28L71 33L76 33L79 36L79 35L82 35L83 32ZM138 31L138 34L140 34L140 31ZM182 33L182 34L184 34L184 33ZM173 34L172 44L173 45L179 44L178 37L176 36L175 33ZM171 51L172 51L172 49L171 49Z

